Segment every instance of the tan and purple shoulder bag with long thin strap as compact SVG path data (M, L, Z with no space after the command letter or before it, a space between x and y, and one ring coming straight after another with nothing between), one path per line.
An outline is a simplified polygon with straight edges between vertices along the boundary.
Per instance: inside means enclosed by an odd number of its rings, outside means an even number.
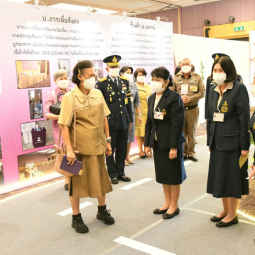
M73 104L74 104L74 153L79 153L76 150L76 106L75 106L75 97L73 95ZM83 171L81 170L82 162L75 159L73 165L68 164L67 156L66 156L66 148L64 143L62 143L60 147L61 140L61 130L59 132L59 140L58 145L54 145L55 150L57 151L57 157L55 162L55 171L64 176L73 176L73 175L82 175Z

